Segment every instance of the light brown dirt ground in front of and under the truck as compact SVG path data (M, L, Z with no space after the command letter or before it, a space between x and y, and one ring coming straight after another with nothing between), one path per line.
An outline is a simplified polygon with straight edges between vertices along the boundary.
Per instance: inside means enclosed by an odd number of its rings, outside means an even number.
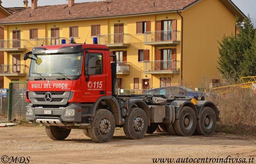
M153 163L152 158L254 157L256 138L215 133L212 136L170 136L153 133L130 140L116 128L108 143L94 143L82 130L71 130L64 141L53 141L43 126L0 127L0 158L30 157L29 163ZM0 162L1 163L1 162ZM160 163L160 162L159 162ZM256 162L255 162L256 163Z

